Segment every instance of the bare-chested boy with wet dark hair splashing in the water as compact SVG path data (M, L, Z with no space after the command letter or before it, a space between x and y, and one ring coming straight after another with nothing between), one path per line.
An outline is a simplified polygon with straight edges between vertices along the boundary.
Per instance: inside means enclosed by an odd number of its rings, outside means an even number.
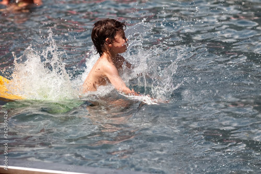
M126 27L125 23L109 18L94 23L91 37L100 58L84 81L83 87L87 91L96 91L98 86L110 82L117 91L139 96L127 88L118 73L126 61L120 53L126 52L128 47L128 39L123 30ZM126 66L131 68L131 64L128 62L126 62Z

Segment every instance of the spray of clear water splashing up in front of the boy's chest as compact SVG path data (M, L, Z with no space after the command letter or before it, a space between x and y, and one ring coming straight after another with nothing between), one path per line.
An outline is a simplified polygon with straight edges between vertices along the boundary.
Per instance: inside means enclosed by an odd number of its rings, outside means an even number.
M145 22L138 23L126 30L128 37L131 38L129 39L131 43L125 56L135 67L128 79L129 82L132 80L137 82L136 84L127 82L127 84L133 86L134 89L135 86L136 88L140 86L139 91L145 95L170 100L173 91L183 83L175 83L174 75L178 69L178 62L185 59L185 53L182 53L180 48L168 47L161 43L161 38L148 37L152 30L153 24ZM156 41L153 46L149 48L144 46L143 43L151 43L154 39ZM167 58L169 62L166 61ZM137 77L137 74L142 75Z

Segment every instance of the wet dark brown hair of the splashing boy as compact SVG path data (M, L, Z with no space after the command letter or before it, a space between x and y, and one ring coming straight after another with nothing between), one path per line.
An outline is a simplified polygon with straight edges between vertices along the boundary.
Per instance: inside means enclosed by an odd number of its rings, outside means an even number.
M95 22L92 29L92 42L100 56L103 54L104 43L106 44L106 38L115 39L117 31L126 28L126 21L119 22L114 19L103 19Z

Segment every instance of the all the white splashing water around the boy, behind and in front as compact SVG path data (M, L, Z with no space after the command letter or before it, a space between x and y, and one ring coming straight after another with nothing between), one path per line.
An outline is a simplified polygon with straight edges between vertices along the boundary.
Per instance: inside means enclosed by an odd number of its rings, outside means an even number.
M183 55L179 54L179 51L176 51L177 54L174 55L176 48L166 49L162 43L155 44L150 48L143 45L143 42L151 42L151 39L145 38L144 35L149 34L152 29L152 24L141 22L126 30L129 47L123 57L134 68L129 70L123 65L123 70L119 72L129 88L144 95L143 97L121 96L131 100L144 101L147 104L169 100L173 91L182 85L182 82L174 84L173 78L177 71L177 62L183 59ZM104 97L114 90L112 85L108 84L98 88L95 92L80 92L79 84L82 84L87 77L88 72L98 59L98 55L92 54L95 52L92 47L88 53L89 59L86 61L86 69L78 78L81 82L75 80L78 83L75 85L70 81L65 64L60 58L65 52L58 51L55 40L52 38L51 29L48 30L48 33L48 40L45 43L49 46L42 53L35 51L32 45L29 45L21 57L16 58L14 55L13 80L6 84L10 93L21 95L27 100L59 101L79 99L79 95L82 96L81 100L91 100L93 97L90 96ZM163 63L166 57L171 57L171 61L167 64ZM175 60L172 61L173 59ZM152 100L146 95L156 100Z

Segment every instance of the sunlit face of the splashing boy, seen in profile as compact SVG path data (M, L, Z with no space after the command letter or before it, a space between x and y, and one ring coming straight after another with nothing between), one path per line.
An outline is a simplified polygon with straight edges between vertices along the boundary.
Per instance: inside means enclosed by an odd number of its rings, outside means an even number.
M123 30L119 30L114 37L115 39L112 39L112 50L114 50L117 53L124 53L127 50L128 47L128 39L125 37L125 33Z

